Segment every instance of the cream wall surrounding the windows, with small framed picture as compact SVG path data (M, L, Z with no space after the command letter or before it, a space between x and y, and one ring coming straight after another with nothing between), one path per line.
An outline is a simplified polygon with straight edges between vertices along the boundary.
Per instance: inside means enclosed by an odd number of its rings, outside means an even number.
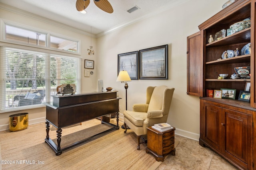
M82 92L92 92L95 91L97 88L97 76L96 74L90 75L90 77L84 77L84 59L88 60L94 60L97 62L97 54L95 55L88 55L87 48L90 47L91 43L91 37L84 35L82 33L72 31L72 27L68 25L61 25L56 24L52 25L48 22L45 22L44 18L40 18L38 16L30 16L31 14L28 14L24 11L15 10L16 12L11 12L8 10L1 9L0 7L0 18L2 20L8 20L12 21L14 23L22 24L29 26L31 28L40 29L43 31L47 31L49 33L54 33L57 35L64 35L66 37L71 37L74 39L81 40L81 55L78 55L77 57L82 58L82 66L81 66L81 76L82 76ZM36 18L36 19L35 19ZM47 20L49 21L49 20ZM56 23L55 21L53 21ZM39 26L38 26L39 25ZM66 28L65 28L66 27ZM90 34L89 34L90 35ZM1 34L2 36L2 34ZM92 46L95 51L97 51L96 48L96 39L92 38ZM91 69L89 69L91 71ZM94 69L95 70L95 69ZM94 71L92 70L92 71ZM46 117L46 107L39 107L36 109L26 109L26 110L20 110L20 111L12 111L12 112L6 112L6 113L0 113L0 131L9 129L9 115L16 114L16 113L29 113L29 124L38 123L45 121Z

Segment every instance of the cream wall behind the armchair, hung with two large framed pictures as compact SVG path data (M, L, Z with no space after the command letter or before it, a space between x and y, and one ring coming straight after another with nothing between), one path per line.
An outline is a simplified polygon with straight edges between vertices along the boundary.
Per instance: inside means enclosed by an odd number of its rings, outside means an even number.
M168 80L132 80L128 82L128 110L134 103L146 101L146 87L174 87L168 123L176 133L195 140L200 133L199 98L186 94L186 38L199 31L198 25L222 10L226 0L190 0L180 6L118 29L97 39L98 78L105 87L118 90L121 111L125 109L124 84L116 82L118 54L168 44Z

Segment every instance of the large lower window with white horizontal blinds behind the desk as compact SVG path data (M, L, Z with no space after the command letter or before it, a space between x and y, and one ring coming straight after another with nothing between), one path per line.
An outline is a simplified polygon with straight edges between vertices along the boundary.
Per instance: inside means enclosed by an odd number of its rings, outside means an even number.
M0 112L50 102L61 84L80 91L79 58L0 47L0 60Z

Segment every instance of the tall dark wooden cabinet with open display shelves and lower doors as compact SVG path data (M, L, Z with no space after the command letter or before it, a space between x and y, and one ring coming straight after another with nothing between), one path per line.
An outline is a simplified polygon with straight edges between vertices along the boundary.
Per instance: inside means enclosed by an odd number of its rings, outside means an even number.
M187 94L200 96L200 139L240 169L256 169L255 26L256 0L236 0L198 26L200 32L187 39ZM208 42L210 35L250 18L251 27ZM228 49L241 49L251 43L251 53L222 59ZM249 79L231 79L234 67L250 66ZM197 70L199 69L199 70ZM194 76L193 71L199 76ZM219 74L228 74L219 80ZM193 80L195 78L196 80ZM250 82L250 102L238 100L239 92ZM197 85L197 86L196 86ZM197 88L198 87L198 88ZM235 100L207 97L207 90L236 89Z

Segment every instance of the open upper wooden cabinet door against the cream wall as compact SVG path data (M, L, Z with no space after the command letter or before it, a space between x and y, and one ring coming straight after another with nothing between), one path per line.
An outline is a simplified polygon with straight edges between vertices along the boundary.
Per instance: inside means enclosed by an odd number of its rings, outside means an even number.
M187 94L203 96L202 35L187 37Z

